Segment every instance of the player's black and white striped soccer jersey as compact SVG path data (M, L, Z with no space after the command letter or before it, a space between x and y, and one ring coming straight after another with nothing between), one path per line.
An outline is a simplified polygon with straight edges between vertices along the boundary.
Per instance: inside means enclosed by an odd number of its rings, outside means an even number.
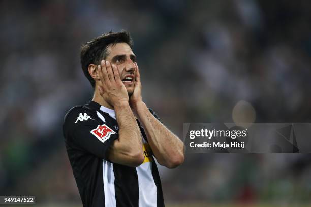
M84 207L164 206L158 168L139 122L138 126L145 160L129 167L108 159L107 151L119 130L114 110L90 101L66 114L66 149Z

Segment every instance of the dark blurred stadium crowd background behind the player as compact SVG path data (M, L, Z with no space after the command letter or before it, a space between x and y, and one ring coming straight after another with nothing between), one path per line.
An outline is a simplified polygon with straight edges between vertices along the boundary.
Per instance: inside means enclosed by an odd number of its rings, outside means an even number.
M82 206L61 124L92 95L81 43L110 30L132 34L143 99L179 136L183 122L232 122L235 106L256 122L310 122L309 11L309 1L1 1L0 195ZM160 169L165 201L309 206L310 158L189 154Z

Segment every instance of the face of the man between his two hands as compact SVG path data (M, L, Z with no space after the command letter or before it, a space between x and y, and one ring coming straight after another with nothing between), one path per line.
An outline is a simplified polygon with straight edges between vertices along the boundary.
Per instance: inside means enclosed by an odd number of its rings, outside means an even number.
M131 96L134 92L136 56L127 43L117 43L110 46L107 52L108 56L105 60L117 66L121 81Z

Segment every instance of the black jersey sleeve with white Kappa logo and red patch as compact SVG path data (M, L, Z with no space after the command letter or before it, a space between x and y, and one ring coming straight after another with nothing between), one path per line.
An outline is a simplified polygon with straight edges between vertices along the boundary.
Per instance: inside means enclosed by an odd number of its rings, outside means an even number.
M112 126L83 107L74 107L66 114L63 132L69 145L105 160L109 147L118 138Z

